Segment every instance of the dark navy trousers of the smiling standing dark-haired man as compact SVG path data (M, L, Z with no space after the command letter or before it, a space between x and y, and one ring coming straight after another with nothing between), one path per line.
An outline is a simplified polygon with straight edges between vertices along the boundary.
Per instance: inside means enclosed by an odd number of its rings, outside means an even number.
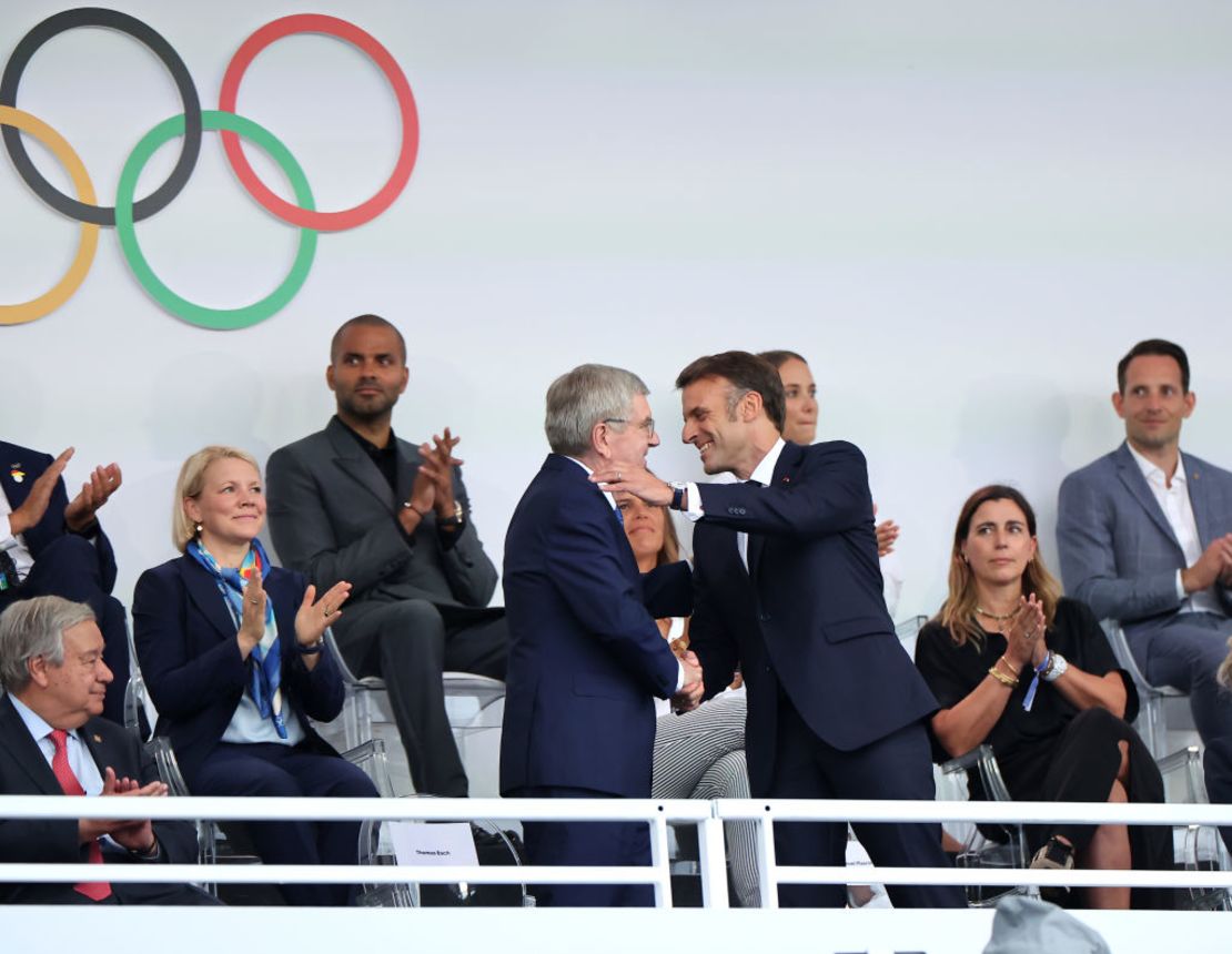
M769 792L755 798L910 799L933 801L933 762L923 723L914 723L854 752L827 745L808 728L786 693L779 694L775 769ZM780 822L775 860L782 865L841 865L846 858L844 822ZM941 826L924 822L854 822L856 837L875 864L947 868ZM887 885L894 907L966 907L954 885ZM843 907L844 885L781 885L784 907Z

